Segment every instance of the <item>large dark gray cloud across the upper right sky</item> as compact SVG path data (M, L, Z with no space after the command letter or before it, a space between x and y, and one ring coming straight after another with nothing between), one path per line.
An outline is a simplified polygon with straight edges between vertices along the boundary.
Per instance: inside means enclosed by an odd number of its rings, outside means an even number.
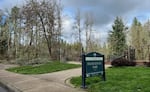
M75 12L92 11L95 25L106 25L113 21L116 16L136 17L143 11L150 11L149 0L63 0L64 7L71 8ZM127 19L128 19L127 18Z

